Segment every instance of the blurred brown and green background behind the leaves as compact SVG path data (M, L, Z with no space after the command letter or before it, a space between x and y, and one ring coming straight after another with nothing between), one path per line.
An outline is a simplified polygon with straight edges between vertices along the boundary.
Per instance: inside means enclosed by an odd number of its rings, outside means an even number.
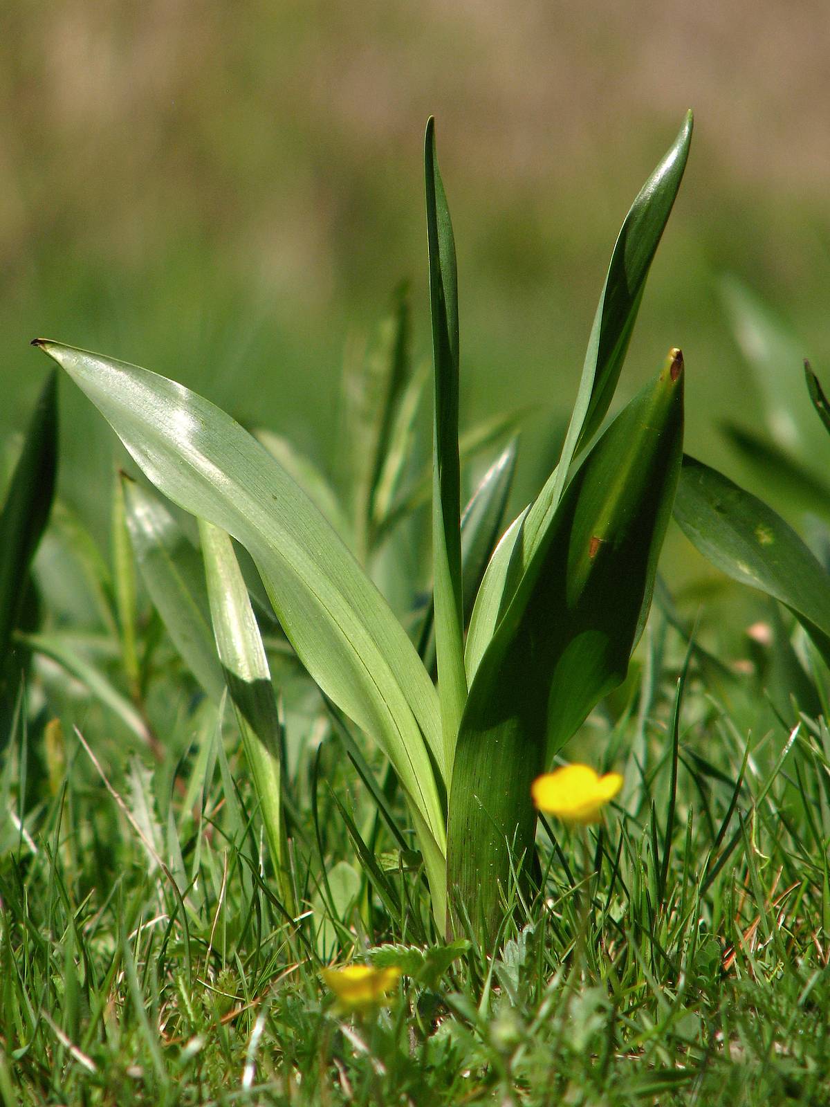
M437 117L466 421L536 408L518 495L569 408L620 223L682 122L686 179L622 383L670 345L687 448L760 411L717 294L736 273L830 350L823 0L6 0L0 436L34 335L174 376L336 468L343 349L408 278L428 352L422 142ZM809 418L799 365L793 407ZM102 532L114 436L63 386L64 496Z

